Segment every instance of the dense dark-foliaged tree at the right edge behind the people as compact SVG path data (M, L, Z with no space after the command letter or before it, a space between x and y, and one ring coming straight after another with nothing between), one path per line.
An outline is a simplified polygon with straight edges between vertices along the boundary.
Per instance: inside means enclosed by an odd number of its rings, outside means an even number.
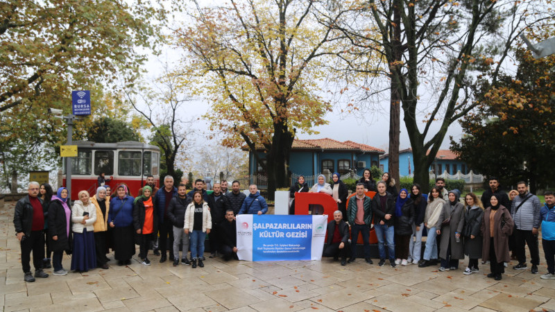
M476 171L506 185L529 180L535 192L553 183L546 168L555 159L555 55L535 60L524 49L516 55L514 76L504 73L497 87L484 82L478 90L483 100L461 120L466 135L452 149Z

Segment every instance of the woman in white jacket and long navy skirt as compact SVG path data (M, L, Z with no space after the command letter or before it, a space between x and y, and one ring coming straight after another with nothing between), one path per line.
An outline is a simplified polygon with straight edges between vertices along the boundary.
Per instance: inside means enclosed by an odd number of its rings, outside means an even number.
M94 244L96 207L92 205L89 192L80 191L78 198L71 210L71 223L73 223L71 229L74 232L71 270L87 272L96 268L96 245Z

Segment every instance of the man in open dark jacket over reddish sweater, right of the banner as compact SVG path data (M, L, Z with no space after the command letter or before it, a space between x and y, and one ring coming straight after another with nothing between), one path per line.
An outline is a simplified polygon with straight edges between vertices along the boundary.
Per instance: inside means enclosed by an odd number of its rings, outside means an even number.
M357 195L349 200L347 209L349 224L351 225L351 257L349 263L357 259L357 240L359 233L364 242L364 258L366 263L372 264L370 259L370 225L372 224L372 200L364 194L364 183L357 183Z

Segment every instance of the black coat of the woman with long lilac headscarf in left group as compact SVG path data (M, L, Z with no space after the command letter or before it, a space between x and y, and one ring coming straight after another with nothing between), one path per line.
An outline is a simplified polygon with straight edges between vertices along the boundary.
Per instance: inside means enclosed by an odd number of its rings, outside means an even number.
M71 216L69 220L71 222ZM58 236L58 240L54 241L53 236ZM71 224L67 236L67 217L60 200L52 200L48 208L48 239L50 250L55 252L69 250L71 246Z

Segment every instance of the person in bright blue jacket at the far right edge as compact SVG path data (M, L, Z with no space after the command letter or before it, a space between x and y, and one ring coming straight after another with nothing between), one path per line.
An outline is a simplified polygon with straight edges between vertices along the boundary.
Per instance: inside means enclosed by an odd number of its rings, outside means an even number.
M546 191L545 205L540 210L542 216L542 245L547 262L547 274L542 279L555 279L555 194Z

